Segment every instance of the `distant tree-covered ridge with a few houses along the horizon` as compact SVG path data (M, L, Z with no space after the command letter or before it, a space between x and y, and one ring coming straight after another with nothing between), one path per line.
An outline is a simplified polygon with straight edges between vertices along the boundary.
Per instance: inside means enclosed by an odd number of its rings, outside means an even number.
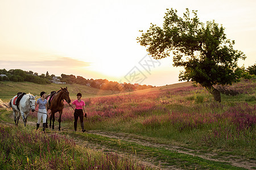
M55 76L46 74L38 75L33 71L23 71L20 69L11 69L9 71L0 69L0 81L12 81L12 82L33 82L37 84L81 84L88 87L100 88L101 90L113 90L113 91L135 91L143 90L146 88L153 88L151 85L141 85L139 83L118 83L109 81L107 79L85 79L82 76L66 75Z

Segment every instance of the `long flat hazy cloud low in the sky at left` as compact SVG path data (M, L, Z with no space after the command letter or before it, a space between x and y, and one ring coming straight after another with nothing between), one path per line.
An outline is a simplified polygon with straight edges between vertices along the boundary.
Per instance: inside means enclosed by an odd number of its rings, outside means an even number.
M79 68L79 67L88 67L90 66L90 62L80 61L77 59L69 58L69 57L56 57L52 60L44 60L44 61L6 61L0 60L0 67L12 67L15 69L16 67L26 66L29 68L33 67L45 67L45 68L64 68L68 67L72 68Z

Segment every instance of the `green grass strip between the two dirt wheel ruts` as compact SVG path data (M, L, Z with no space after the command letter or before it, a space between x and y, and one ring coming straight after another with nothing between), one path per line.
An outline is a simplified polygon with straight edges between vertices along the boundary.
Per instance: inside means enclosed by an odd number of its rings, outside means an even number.
M128 142L122 139L106 137L102 134L93 134L90 131L86 134L71 133L69 135L73 138L84 139L89 143L94 143L94 145L104 146L109 150L135 154L138 158L151 160L152 163L164 169L245 169L227 162L207 160L199 156L170 151L161 147L145 146L137 142Z

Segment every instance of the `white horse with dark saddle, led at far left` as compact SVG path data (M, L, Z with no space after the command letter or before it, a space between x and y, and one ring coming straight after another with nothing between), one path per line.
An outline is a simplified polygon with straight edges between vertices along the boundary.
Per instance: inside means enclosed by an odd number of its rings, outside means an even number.
M13 100L15 99L16 96L14 96L13 99L11 99L10 104L9 104L10 107L13 108L13 116L14 116L15 125L18 125L19 117L21 115L23 118L24 126L26 126L27 116L30 113L30 109L32 112L35 112L36 96L33 96L31 94L26 94L26 95L22 96L22 99L20 99L19 105L18 105L19 109L17 108L16 105L13 104ZM18 113L17 117L16 117L16 113Z

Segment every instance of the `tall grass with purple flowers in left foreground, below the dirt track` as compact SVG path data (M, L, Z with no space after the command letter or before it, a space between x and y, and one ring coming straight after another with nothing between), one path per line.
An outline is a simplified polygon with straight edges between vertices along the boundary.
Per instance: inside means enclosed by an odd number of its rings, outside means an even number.
M76 145L34 128L0 126L0 169L146 169L133 159Z

